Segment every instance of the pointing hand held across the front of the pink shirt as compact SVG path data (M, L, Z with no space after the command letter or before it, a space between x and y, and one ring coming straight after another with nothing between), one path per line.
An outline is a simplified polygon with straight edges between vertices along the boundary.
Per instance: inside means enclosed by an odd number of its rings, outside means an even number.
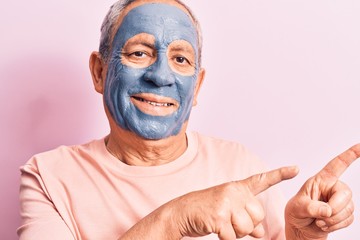
M183 237L215 233L221 240L247 235L260 238L264 236L265 214L256 195L297 173L296 167L283 167L188 193L166 204L171 211L168 216Z

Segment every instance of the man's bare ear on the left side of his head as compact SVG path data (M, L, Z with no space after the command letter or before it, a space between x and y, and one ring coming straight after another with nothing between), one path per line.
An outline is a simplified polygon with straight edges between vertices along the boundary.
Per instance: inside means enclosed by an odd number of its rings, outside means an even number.
M104 93L104 83L106 78L106 64L102 60L99 52L92 52L89 59L89 67L95 90Z

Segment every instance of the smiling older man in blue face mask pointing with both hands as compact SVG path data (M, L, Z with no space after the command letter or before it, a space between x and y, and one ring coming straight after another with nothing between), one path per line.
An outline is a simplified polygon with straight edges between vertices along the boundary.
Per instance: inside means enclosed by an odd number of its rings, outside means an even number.
M20 239L326 239L351 224L338 177L359 145L329 162L287 204L242 145L186 126L204 79L201 33L175 0L121 0L90 69L110 134L35 155L21 169Z

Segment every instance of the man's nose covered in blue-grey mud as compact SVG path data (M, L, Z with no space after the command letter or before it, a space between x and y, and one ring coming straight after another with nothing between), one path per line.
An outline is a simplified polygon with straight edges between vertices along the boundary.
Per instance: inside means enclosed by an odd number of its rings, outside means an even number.
M144 74L145 81L152 82L158 87L175 83L174 73L169 67L166 54L159 54L157 61Z

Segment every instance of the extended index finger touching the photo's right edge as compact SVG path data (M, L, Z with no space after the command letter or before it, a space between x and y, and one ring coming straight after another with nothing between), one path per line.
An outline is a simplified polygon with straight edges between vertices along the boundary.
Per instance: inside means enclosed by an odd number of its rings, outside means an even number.
M343 172L360 157L360 143L341 153L318 173L325 178L339 178Z

